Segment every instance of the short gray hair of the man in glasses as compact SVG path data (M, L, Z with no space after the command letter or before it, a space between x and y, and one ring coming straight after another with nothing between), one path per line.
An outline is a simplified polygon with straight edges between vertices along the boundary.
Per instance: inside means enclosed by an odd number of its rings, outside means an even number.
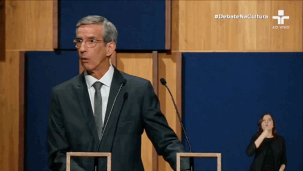
M118 31L115 25L112 22L108 21L105 17L102 17L100 15L88 15L86 17L81 18L76 25L76 34L78 28L81 25L87 24L98 24L103 26L102 36L104 40L104 45L106 45L108 42L115 42L117 44Z

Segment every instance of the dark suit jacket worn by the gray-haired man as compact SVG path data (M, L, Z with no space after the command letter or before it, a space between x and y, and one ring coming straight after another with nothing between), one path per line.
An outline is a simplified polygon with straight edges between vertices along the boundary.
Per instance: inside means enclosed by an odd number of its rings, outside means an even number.
M159 155L176 169L176 153L184 152L175 132L168 126L159 101L148 80L115 69L110 88L105 122L121 82L121 88L99 152L112 153L112 170L144 170L141 160L141 135L145 129ZM104 123L105 123L104 122ZM48 121L48 159L52 170L66 169L66 152L95 152L98 133L84 74L52 90ZM189 168L182 159L182 169ZM72 158L72 170L93 170L94 159ZM106 170L106 159L99 159L99 170Z

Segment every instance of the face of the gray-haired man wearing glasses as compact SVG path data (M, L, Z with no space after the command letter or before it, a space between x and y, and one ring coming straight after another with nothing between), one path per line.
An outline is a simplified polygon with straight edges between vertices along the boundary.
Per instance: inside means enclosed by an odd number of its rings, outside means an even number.
M108 62L106 57L107 47L104 46L102 33L102 25L88 24L81 25L78 28L77 39L82 39L82 41L102 40L96 43L93 48L89 48L86 42L82 42L81 47L77 49L81 65L88 71L99 70L104 66L104 63Z

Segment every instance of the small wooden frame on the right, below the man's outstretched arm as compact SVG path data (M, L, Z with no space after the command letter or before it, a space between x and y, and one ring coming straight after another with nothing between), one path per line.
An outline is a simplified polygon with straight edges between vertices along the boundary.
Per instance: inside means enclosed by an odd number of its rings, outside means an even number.
M217 170L221 171L221 153L177 153L177 171L180 171L181 157L217 157Z

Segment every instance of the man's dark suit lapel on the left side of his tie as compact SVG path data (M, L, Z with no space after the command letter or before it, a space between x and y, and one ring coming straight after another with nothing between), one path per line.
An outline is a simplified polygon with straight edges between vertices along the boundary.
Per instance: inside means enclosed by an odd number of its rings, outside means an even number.
M84 72L79 75L78 84L76 85L76 93L78 96L79 104L82 109L82 113L86 119L88 128L94 137L96 144L99 142L97 126L95 123L95 117L92 111L91 101L88 95L88 89L85 82Z

